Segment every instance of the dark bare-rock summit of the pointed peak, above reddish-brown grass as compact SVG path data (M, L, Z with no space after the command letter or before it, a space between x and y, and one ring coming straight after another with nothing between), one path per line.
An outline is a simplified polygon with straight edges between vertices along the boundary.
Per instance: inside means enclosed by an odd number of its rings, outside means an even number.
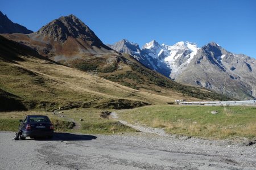
M37 33L60 42L65 42L68 37L73 37L91 41L92 45L96 46L102 44L94 32L73 14L53 20L40 28Z

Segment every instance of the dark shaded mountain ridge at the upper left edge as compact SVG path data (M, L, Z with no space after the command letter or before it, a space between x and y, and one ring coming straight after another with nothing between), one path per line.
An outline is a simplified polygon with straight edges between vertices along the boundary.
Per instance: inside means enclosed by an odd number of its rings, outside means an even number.
M0 11L0 33L32 33L33 31L28 30L22 25L11 22L6 15Z

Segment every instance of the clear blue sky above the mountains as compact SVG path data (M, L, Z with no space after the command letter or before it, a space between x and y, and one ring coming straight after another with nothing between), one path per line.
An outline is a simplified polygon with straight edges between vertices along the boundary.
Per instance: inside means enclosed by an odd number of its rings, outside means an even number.
M191 41L201 47L214 41L230 52L256 58L254 0L1 0L0 10L32 31L74 14L105 44L128 39L140 46L156 40L167 45Z

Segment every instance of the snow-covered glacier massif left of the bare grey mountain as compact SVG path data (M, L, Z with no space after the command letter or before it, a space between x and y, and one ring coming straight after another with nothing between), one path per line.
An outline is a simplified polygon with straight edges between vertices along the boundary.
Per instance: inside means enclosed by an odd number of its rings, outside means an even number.
M128 40L118 41L109 47L118 52L130 54L143 65L172 79L181 73L199 49L195 43L188 41L177 42L171 46L160 45L155 40L146 43L142 49L138 44Z

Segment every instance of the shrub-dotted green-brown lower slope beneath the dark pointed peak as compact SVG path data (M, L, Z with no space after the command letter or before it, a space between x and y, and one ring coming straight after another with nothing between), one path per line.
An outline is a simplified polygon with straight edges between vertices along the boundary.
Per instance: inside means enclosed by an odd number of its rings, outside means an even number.
M174 100L230 100L204 88L174 82L156 71L147 69L128 54L84 54L75 58L60 59L58 62L135 90L171 96Z

